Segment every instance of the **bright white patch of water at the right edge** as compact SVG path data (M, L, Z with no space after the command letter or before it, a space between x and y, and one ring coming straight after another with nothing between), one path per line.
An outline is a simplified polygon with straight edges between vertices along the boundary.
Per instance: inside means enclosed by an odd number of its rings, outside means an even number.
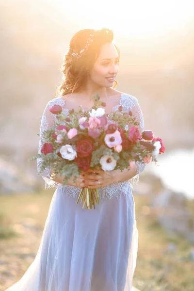
M162 178L164 186L194 199L194 148L165 151L157 164L147 164L146 171Z

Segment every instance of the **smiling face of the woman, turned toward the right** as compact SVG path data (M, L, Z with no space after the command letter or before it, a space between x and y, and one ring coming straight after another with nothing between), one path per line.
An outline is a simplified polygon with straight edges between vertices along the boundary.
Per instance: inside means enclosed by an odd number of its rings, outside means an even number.
M102 87L112 87L118 73L119 56L113 43L101 47L100 54L90 71L90 79Z

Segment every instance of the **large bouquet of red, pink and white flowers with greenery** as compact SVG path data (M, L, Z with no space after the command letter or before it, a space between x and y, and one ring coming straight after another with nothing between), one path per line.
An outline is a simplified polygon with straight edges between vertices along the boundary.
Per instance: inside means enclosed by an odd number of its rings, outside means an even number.
M161 138L154 138L151 130L140 134L137 126L139 122L129 113L122 113L122 106L118 110L106 114L105 102L94 96L94 105L88 111L82 106L78 110L63 113L60 105L49 108L56 115L56 124L43 131L45 144L41 154L33 156L30 161L42 158L40 174L47 167L53 169L56 175L65 175L63 184L74 175L74 182L82 171L102 169L112 171L120 169L130 170L129 162L140 163L158 162L157 156L164 152L165 147ZM127 126L127 129L126 129ZM81 200L82 208L92 209L99 205L98 189L81 189L77 200Z

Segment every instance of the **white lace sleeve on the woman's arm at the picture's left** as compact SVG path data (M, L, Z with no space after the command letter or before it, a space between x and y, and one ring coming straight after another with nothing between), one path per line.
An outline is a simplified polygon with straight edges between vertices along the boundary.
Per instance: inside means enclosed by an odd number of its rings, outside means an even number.
M41 119L41 125L40 125L40 139L39 139L39 147L38 147L38 153L41 153L41 147L45 143L43 131L49 129L53 125L55 125L55 119L54 115L49 111L49 108L52 106L52 100L50 100L43 112L42 119ZM40 173L41 165L42 165L43 159L38 158L37 159L37 171ZM45 189L57 187L59 183L53 181L50 179L50 167L46 168L44 173L40 174L41 177L45 180Z

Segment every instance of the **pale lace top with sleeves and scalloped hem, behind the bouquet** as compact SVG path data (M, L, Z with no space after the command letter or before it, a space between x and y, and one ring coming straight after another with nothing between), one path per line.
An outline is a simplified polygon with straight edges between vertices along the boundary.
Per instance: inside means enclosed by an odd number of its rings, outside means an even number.
M68 114L69 109L65 108L65 100L62 97L57 97L54 99L51 99L44 110L42 120L41 120L41 126L40 126L40 140L39 140L39 148L38 153L41 153L41 147L45 143L44 137L42 135L42 132L46 129L49 129L53 125L55 125L57 119L56 115L50 113L49 108L54 105L58 104L63 108L63 112ZM144 131L144 118L141 111L141 108L139 106L139 102L136 97L131 96L129 94L121 94L119 104L113 107L113 111L117 110L118 107L122 105L123 107L123 113L127 112L129 113L129 110L132 112L133 116L136 117L136 121L139 122L138 129L140 133ZM128 125L126 125L125 129L128 129ZM42 159L37 159L37 171L40 172L40 166L42 163ZM99 188L99 198L112 198L113 196L119 197L121 194L129 194L131 192L132 185L137 184L139 180L139 174L144 170L146 164L136 162L135 164L135 170L137 175L129 180L118 182L118 183L112 183L106 187ZM53 180L51 180L50 177L50 167L48 167L44 174L41 174L42 178L45 180L45 189L51 188L51 187L59 187L61 188L65 194L69 196L78 196L80 194L81 188L76 186L69 186L69 185L63 185L60 183L57 183Z

